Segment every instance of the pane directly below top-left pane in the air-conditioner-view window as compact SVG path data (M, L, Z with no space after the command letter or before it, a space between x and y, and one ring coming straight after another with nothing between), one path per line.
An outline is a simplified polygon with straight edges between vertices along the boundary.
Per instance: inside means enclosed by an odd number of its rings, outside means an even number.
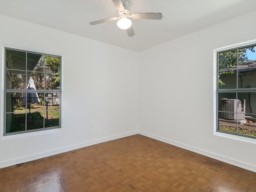
M218 78L219 89L236 88L236 70L219 72Z

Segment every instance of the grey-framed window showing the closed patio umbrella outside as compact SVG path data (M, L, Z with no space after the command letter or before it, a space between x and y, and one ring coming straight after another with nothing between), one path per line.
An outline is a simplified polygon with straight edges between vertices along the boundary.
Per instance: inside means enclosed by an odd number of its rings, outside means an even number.
M61 57L5 48L4 135L60 128Z

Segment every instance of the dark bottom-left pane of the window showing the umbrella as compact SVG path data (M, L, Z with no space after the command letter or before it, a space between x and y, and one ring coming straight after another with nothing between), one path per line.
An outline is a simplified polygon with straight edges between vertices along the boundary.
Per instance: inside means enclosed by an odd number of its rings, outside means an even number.
M24 131L25 122L25 113L6 114L6 133Z

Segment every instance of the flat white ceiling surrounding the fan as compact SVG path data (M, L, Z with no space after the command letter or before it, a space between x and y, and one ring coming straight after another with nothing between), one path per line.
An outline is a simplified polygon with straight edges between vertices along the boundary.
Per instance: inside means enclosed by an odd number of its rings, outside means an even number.
M128 37L116 21L112 0L0 0L0 14L134 51L141 51L256 10L256 0L129 0L131 13L161 12L162 20L134 20ZM238 24L238 27L245 27ZM2 29L3 30L3 29Z

